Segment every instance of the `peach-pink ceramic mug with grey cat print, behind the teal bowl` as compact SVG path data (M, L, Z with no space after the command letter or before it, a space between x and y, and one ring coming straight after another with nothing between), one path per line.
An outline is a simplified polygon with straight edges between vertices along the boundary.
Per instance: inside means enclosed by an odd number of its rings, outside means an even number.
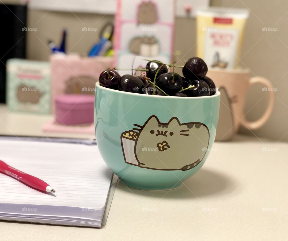
M210 77L221 92L220 114L216 140L229 140L238 131L239 126L254 130L268 120L274 105L275 91L269 80L264 77L250 77L248 69L221 70L209 69ZM269 94L268 106L264 114L256 121L248 121L244 115L247 90L254 84L262 84L263 91Z

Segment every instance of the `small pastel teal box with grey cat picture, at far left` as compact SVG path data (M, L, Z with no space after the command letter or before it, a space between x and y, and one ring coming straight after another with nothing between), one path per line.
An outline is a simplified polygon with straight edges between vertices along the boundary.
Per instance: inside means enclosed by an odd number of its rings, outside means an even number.
M50 113L49 62L9 59L6 71L6 103L9 110Z

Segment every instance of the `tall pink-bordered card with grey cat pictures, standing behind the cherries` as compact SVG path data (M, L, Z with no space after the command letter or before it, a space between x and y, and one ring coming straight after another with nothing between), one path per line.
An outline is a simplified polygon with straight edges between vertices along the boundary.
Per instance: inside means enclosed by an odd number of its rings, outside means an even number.
M114 36L118 68L131 69L135 56L172 61L173 5L173 0L119 1Z

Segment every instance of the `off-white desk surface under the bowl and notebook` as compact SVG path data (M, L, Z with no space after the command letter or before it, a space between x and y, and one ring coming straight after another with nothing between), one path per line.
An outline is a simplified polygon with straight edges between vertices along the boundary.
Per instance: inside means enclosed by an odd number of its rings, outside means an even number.
M6 112L0 106L0 134L42 136L51 119ZM178 189L119 182L101 229L1 221L0 240L287 240L287 150L287 143L246 136L214 143L201 170Z

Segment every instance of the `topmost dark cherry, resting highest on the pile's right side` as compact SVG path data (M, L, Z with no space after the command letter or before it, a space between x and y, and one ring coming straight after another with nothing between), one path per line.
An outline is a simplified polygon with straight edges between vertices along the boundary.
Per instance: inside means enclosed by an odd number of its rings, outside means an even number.
M206 63L203 59L198 57L190 58L182 68L182 73L188 80L204 78L207 71L208 68Z

